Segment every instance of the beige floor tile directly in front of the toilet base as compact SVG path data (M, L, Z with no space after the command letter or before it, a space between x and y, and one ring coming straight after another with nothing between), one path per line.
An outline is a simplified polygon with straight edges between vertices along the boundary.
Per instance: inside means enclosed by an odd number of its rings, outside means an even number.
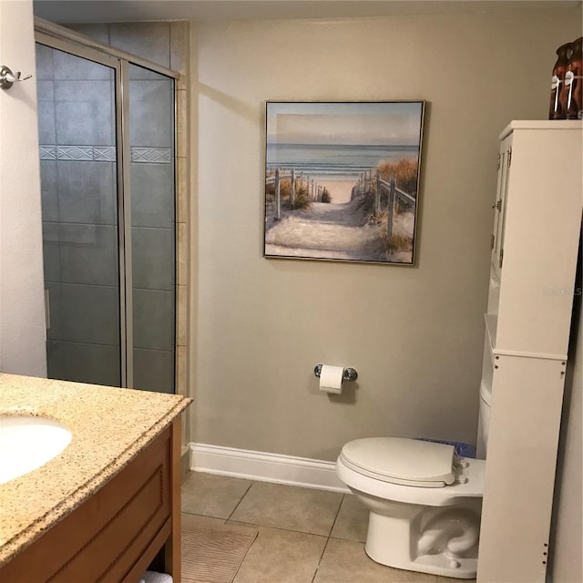
M330 538L313 583L436 583L435 575L384 567L367 557L363 543ZM458 581L459 583L459 581Z

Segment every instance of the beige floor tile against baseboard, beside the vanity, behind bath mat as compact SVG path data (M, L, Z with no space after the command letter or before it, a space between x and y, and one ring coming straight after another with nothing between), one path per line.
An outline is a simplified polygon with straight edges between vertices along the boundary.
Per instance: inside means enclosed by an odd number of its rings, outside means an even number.
M236 477L191 472L182 484L182 512L229 518L251 484Z

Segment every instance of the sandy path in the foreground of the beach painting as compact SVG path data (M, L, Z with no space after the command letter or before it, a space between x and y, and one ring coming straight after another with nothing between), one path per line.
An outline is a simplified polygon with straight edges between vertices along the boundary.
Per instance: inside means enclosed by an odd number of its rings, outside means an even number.
M378 225L362 224L362 201L312 202L309 210L286 211L265 236L268 255L386 261Z

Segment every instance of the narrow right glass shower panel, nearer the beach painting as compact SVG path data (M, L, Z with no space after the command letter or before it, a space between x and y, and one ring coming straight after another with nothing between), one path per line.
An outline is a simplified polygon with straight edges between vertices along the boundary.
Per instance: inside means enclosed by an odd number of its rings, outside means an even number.
M128 66L133 384L174 393L174 79Z

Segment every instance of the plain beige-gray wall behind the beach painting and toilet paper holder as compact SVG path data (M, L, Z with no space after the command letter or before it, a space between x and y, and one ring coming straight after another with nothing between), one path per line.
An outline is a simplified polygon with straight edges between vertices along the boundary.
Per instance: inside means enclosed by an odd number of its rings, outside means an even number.
M498 133L547 117L578 9L199 24L193 441L332 460L366 435L475 443ZM265 260L264 102L428 102L414 268ZM346 398L315 363L352 365Z

